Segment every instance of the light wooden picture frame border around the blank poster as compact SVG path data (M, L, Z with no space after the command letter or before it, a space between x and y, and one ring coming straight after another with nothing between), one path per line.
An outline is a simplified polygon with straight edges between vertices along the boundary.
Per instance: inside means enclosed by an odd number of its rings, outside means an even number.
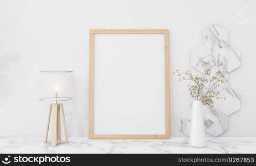
M165 111L164 134L95 134L94 133L94 35L95 34L163 34L164 65L163 96ZM89 61L89 139L169 139L170 138L170 74L169 74L169 32L168 29L91 29Z

